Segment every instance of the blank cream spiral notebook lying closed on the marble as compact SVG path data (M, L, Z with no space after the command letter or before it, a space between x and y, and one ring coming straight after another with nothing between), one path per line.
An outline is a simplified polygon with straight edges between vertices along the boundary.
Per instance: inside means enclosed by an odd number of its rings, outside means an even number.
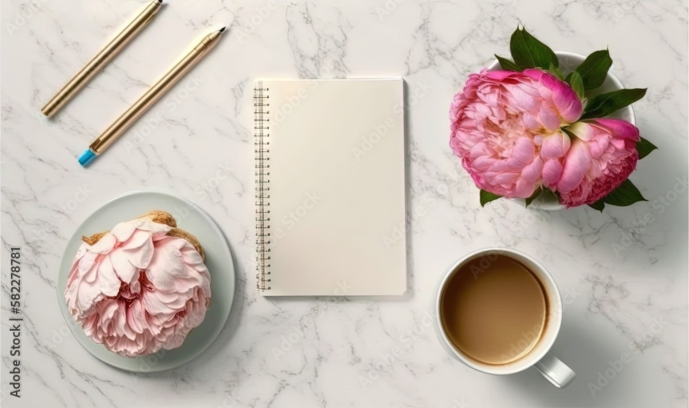
M401 78L254 83L264 296L407 289Z

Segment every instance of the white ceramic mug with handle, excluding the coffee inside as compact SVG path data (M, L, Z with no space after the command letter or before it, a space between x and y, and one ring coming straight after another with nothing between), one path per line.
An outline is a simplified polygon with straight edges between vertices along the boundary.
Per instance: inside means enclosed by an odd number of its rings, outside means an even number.
M457 349L451 342L446 329L443 327L441 320L441 310L440 310L440 300L444 294L444 290L447 287L450 279L457 273L466 263L472 261L475 258L486 257L489 261L491 257L495 259L497 256L506 256L511 258L531 270L531 272L536 276L538 281L541 283L546 294L547 310L548 310L548 323L546 327L542 329L541 336L537 343L529 350L524 356L518 358L517 360L510 361L505 364L487 364L481 363L469 356L466 356L461 350ZM562 361L558 360L557 357L553 356L549 352L553 343L555 343L555 338L559 333L560 325L562 324L562 297L559 294L557 285L553 281L551 274L546 271L540 263L535 261L526 254L522 252L515 251L514 249L492 247L481 249L479 251L473 252L464 258L460 259L451 269L448 274L443 278L440 289L438 290L438 297L435 302L435 314L437 316L437 323L440 332L440 336L448 349L455 358L462 361L462 363L468 365L469 367L481 371L486 374L495 375L506 375L515 374L520 371L528 369L528 367L535 367L540 371L543 376L548 379L553 385L559 388L564 388L575 379L576 374L572 369L567 367Z

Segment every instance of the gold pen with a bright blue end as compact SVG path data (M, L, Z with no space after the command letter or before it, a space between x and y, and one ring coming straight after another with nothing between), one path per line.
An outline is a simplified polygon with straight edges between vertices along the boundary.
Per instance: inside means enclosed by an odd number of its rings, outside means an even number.
M155 85L146 91L141 98L122 114L110 128L107 128L98 139L94 140L88 149L79 156L79 163L83 166L88 165L99 154L103 153L108 146L121 136L137 119L139 119L161 96L172 88L179 79L191 70L207 52L216 45L220 34L225 28L216 30L204 37L188 54L183 55L181 60L169 70Z

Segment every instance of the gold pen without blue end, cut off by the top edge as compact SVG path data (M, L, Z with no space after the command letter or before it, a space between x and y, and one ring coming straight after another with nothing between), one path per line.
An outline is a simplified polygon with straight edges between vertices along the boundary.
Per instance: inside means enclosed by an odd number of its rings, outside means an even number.
M163 0L152 0L132 22L127 24L117 36L101 50L96 57L93 57L88 64L81 68L74 78L70 80L55 96L50 99L41 109L41 112L49 118L56 114L62 107L76 95L103 67L110 62L125 45L132 41L136 34L140 32L153 19L158 10L161 9Z

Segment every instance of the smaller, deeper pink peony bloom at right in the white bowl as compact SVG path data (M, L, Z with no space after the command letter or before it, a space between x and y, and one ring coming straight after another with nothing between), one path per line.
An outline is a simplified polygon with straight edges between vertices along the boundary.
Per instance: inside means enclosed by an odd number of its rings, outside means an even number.
M544 166L544 183L566 207L593 204L635 170L639 129L627 121L595 119L566 128L576 137L562 165Z

